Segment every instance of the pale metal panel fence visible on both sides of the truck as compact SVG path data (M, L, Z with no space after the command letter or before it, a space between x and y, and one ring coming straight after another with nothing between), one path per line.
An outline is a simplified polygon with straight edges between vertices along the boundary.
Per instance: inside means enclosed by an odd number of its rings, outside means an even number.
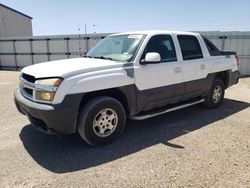
M250 75L250 32L200 32L219 49L236 51L242 75ZM0 68L19 69L44 61L84 55L107 34L0 39Z

